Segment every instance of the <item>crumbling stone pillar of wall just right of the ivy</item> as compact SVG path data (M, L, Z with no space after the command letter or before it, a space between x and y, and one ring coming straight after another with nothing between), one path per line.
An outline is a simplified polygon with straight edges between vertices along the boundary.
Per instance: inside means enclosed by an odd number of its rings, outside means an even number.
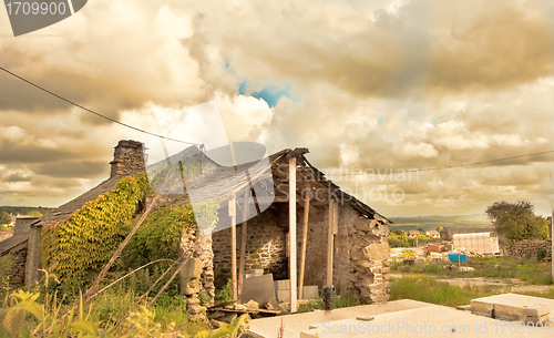
M181 236L179 249L185 257L192 253L179 272L179 293L186 297L187 311L199 316L214 301L212 235L201 235L196 227L189 227Z

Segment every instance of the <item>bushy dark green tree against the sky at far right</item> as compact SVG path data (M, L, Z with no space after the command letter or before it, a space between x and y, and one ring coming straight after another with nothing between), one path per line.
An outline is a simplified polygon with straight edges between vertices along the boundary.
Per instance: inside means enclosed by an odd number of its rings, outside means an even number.
M507 239L543 239L544 218L535 215L533 204L529 201L509 203L494 202L485 209L499 235Z

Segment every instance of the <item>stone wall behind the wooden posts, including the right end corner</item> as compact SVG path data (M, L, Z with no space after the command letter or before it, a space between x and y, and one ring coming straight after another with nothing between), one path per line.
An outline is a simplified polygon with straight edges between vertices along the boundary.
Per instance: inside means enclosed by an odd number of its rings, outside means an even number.
M222 211L224 213L226 211ZM304 209L297 208L297 266L300 272ZM328 207L310 207L306 247L305 285L326 284ZM389 227L382 221L369 219L351 206L339 205L338 234L335 235L334 285L341 293L350 291L362 303L380 303L389 298L388 264ZM274 279L288 278L288 216L267 209L248 221L245 269L263 268ZM214 233L214 270L217 286L230 278L230 229ZM240 226L237 226L237 260ZM237 263L238 265L238 263Z

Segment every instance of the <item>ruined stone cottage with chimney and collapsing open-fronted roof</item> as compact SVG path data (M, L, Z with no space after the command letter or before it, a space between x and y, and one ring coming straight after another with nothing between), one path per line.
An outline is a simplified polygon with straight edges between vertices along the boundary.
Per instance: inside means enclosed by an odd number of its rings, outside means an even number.
M334 284L365 303L388 299L390 222L328 181L308 162L307 152L284 150L265 158L266 162L225 166L213 161L209 153L189 147L165 161L176 166L178 160L177 170L165 180L170 187L176 188L158 190L162 197L154 209L197 201L216 201L220 206L219 221L209 225L211 232L198 235L191 229L181 238L181 250L193 252L196 258L196 264L185 270L199 275L182 276L182 290L189 294L186 296L197 311L202 310L197 306L198 293L213 296L215 281L233 278L230 267L236 262L232 257L242 257L235 270L239 275L248 268L263 268L275 277L296 279L302 285ZM186 165L187 158L195 160ZM148 178L154 186L158 181L151 174L166 172L156 171L156 165L152 167L148 166ZM120 141L109 180L37 219L21 242L27 248L24 283L39 280L43 227L64 222L88 202L111 192L123 177L142 171L145 171L143 144ZM152 201L152 195L146 196L136 205L136 214ZM233 236L236 224L246 236ZM235 255L232 248L236 248Z

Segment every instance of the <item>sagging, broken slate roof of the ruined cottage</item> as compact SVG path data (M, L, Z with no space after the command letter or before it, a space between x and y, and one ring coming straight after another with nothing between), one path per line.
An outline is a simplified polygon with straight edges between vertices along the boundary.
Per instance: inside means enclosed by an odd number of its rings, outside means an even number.
M148 175L152 174L161 174L163 173L164 166L167 167L167 164L172 164L174 166L177 165L178 161L186 161L192 156L201 155L201 163L203 165L203 170L205 173L202 175L199 180L187 181L186 190L188 193L194 191L194 198L202 201L226 201L229 199L233 195L238 194L240 191L245 188L249 188L248 185L250 182L259 182L263 180L271 180L273 174L276 172L276 165L279 163L284 163L287 160L287 156L294 155L298 158L298 164L304 168L311 171L315 175L316 181L315 184L319 184L329 190L330 195L332 195L337 201L343 202L352 206L355 209L360 212L362 215L371 216L376 219L383 221L387 223L392 223L384 216L377 213L369 205L359 201L352 195L349 195L340 190L338 185L332 183L331 181L325 177L325 174L312 166L306 156L307 150L299 148L290 150L286 148L267 157L267 161L259 162L249 162L245 164L237 165L236 170L234 166L223 166L209 157L205 156L198 148L195 146L188 147L183 152L168 157L167 160L157 162L151 166L147 166ZM32 226L49 226L57 224L59 222L66 221L75 211L83 207L90 201L96 199L100 195L110 192L116 185L119 181L123 177L132 176L137 174L141 171L135 171L127 173L125 175L114 175L109 180L102 182L98 186L88 191L86 193L80 195L79 197L61 205L57 209L52 211L50 214L40 217ZM167 180L166 186L174 187L164 191L166 194L178 194L183 193L183 187L181 184L181 173L174 170L173 174ZM249 178L249 180L248 180ZM191 196L192 194L188 194ZM184 198L188 203L188 198ZM13 247L21 245L29 238L29 232L14 234L12 237L0 242L0 255L6 253Z

